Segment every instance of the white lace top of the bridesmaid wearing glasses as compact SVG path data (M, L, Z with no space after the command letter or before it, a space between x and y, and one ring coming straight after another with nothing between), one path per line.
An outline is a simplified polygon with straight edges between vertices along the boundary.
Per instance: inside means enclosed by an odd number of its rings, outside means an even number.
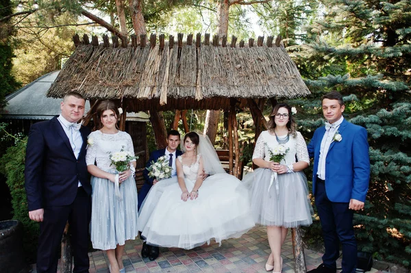
M273 150L278 145L275 135L271 135L269 131L262 131L258 137L256 148L254 148L253 159L262 158L266 161L270 161L269 148ZM286 144L283 144L286 148L290 148L282 160L281 164L293 164L297 161L306 161L310 163L310 157L308 157L308 150L306 141L300 132L297 135L290 135L290 140Z

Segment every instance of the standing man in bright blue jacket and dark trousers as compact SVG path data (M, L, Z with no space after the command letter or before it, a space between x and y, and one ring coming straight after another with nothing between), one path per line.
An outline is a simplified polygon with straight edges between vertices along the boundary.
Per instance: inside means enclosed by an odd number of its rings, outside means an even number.
M343 96L329 92L322 99L327 122L316 129L308 153L314 157L312 192L325 245L323 263L311 273L335 273L339 244L343 273L356 272L357 243L353 211L364 208L370 160L366 129L345 120Z

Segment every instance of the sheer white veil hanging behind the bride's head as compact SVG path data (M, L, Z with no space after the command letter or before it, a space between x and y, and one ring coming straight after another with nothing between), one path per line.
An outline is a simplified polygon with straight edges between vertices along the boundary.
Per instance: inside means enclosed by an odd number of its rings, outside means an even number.
M201 154L203 157L204 171L206 172L206 174L224 173L225 170L223 169L223 166L221 166L219 156L214 150L214 146L212 146L208 136L203 135L203 133L199 133L199 131L196 131L195 133L199 135L197 154ZM184 143L181 148L182 151L186 151Z

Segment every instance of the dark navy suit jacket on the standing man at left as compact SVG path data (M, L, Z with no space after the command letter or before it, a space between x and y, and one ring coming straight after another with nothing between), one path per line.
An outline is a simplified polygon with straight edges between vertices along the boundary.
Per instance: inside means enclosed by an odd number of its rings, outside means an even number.
M25 189L29 211L73 203L78 182L90 195L90 177L86 165L87 137L82 127L83 145L75 158L58 116L37 122L30 128L26 149Z

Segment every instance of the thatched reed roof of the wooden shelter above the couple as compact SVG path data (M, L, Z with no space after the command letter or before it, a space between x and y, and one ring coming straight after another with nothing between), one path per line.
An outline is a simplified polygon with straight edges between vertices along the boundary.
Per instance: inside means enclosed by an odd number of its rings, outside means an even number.
M97 37L88 43L75 38L77 49L66 62L62 73L51 86L48 96L62 97L70 90L88 99L127 99L134 110L164 109L229 109L230 98L245 105L246 99L294 98L310 91L299 71L282 46L280 39L258 39L253 46L236 38L219 44L206 34L201 42L186 42L179 34L175 44L160 36L160 43L151 36L151 44L142 37L140 44L119 47L113 38L99 44ZM131 99L131 101L130 101ZM129 108L130 109L130 108Z

